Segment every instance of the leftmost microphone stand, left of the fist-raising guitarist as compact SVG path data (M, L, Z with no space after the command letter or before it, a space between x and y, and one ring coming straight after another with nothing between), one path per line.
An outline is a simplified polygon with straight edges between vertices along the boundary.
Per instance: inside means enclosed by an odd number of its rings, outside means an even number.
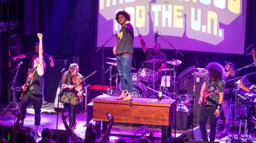
M17 75L18 75L18 72L19 72L19 68L20 68L20 66L17 66L17 72L16 72L16 74L14 76L14 79L13 79L13 85L11 85L11 88L14 88L14 90L13 90L13 101L8 106L6 106L5 109L3 109L3 111L13 110L13 112L14 112L14 124L15 124L15 118L16 118L16 110L18 109L18 111L20 112L19 105L16 102L16 88L15 88L16 78L17 78ZM13 106L13 109L11 109L12 106Z

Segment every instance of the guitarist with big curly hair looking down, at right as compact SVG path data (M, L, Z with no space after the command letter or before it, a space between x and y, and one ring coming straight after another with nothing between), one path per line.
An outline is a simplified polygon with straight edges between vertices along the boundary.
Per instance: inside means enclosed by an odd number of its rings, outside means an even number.
M200 130L202 133L203 141L208 141L207 135L207 119L209 118L210 123L210 141L215 140L217 119L220 116L221 104L224 98L224 68L217 62L209 63L206 67L208 75L205 76L204 83L201 86L200 102L204 102L204 91L209 90L213 93L207 97L206 103L201 106L200 110ZM214 92L217 90L218 92Z

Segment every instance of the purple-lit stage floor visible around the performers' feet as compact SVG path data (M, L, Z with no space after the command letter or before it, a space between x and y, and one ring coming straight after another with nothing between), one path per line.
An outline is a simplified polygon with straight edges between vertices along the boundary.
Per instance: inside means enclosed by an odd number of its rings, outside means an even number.
M67 115L68 112L65 112L65 115ZM61 113L59 113L59 117L58 117L58 121L57 121L57 114L55 112L55 110L53 109L53 103L48 103L47 105L43 105L42 107L42 114L41 114L42 118L41 118L41 125L40 125L40 129L39 132L42 132L43 128L50 128L50 129L59 129L59 130L65 130L63 122L61 120ZM80 114L77 114L77 126L75 128L75 133L84 138L84 134L85 134L85 124L86 124L86 116L87 116L87 112L81 112ZM67 119L68 122L68 119ZM56 124L58 123L57 127ZM11 111L7 111L7 112L0 112L0 124L1 125L13 125L14 124L14 115L12 114ZM29 106L27 108L27 115L26 115L26 119L24 120L24 127L30 127L32 129L35 129L34 126L34 109L32 106ZM114 125L112 132L115 135L122 135L122 137L119 136L110 136L110 141L109 142L115 142L117 141L119 138L124 138L125 140L127 140L127 142L134 142L134 141L138 141L138 138L142 135L142 130L140 130L137 135L138 137L127 137L127 135L134 135L135 132L137 132L137 130L139 129L139 127L124 127L123 125ZM161 136L161 129L160 128L150 128L154 137L159 137ZM190 131L191 129L188 129L188 131ZM176 131L176 137L179 137L180 135L182 135L185 132L188 131ZM221 135L221 129L218 129L217 133L216 133L216 141L220 141L220 142L226 142L226 140L229 139L230 136L232 136L232 131L229 132L228 136L222 136ZM209 130L208 130L209 132ZM172 133L174 133L174 130L172 131ZM237 131L235 131L234 135L237 137ZM174 134L173 134L174 136ZM40 139L39 139L40 140ZM253 142L256 142L256 137L255 134L254 136L250 136L250 140ZM160 142L160 139L156 139L155 142Z

